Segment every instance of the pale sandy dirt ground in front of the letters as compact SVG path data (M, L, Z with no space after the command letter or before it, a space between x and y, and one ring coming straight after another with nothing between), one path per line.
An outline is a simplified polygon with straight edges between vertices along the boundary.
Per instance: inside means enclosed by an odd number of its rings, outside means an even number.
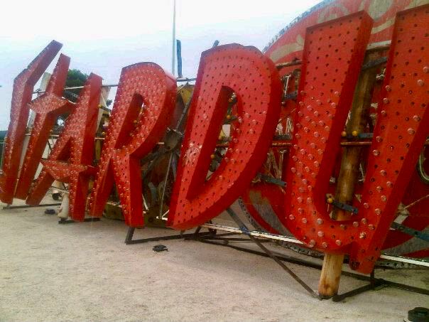
M269 258L196 241L125 245L124 222L58 225L44 210L0 210L0 321L379 322L429 306L428 296L392 288L319 301ZM171 233L146 228L136 237ZM159 243L168 252L153 252ZM320 271L288 266L317 289ZM428 270L376 275L429 287ZM362 285L343 277L340 291Z

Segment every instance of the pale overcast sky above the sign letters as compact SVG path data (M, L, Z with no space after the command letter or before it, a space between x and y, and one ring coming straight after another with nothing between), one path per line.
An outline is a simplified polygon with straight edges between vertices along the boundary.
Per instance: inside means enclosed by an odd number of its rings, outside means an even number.
M183 75L196 75L201 52L215 40L262 50L281 28L317 2L176 0L176 38L182 41ZM121 68L133 63L153 61L171 70L172 19L173 0L4 1L0 18L0 129L9 124L13 78L51 40L63 43L61 52L70 56L70 68L96 73L105 84L112 84L118 82Z

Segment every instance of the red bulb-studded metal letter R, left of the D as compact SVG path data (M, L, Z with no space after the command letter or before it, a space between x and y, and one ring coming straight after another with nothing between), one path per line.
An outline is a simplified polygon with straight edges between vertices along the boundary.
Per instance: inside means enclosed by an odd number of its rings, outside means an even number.
M165 134L175 108L176 82L154 63L122 69L99 170L89 198L91 214L100 217L113 183L126 225L143 226L140 159Z

